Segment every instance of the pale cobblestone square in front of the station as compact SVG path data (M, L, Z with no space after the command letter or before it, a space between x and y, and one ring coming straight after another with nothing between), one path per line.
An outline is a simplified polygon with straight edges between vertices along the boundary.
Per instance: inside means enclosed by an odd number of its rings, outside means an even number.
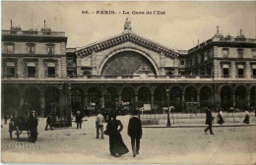
M204 128L144 128L140 155L132 157L127 136L129 117L118 117L121 133L130 152L121 157L109 154L108 137L96 139L95 117L87 118L82 130L72 128L44 131L45 119L39 119L38 139L28 142L23 133L17 141L2 128L2 161L33 163L189 163L256 164L256 127L219 127L215 135ZM3 121L2 121L3 123Z

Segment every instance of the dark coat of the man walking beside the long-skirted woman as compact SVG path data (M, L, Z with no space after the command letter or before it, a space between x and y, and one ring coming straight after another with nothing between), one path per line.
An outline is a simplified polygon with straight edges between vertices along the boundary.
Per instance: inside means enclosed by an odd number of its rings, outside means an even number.
M128 124L128 136L134 138L142 137L142 122L137 117L132 117Z

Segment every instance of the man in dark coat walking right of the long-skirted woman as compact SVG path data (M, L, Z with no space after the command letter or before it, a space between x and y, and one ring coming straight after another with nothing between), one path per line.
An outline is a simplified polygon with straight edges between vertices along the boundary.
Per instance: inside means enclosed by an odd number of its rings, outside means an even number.
M140 139L142 138L142 122L138 118L138 111L133 111L133 116L129 120L128 124L128 136L131 138L133 157L139 154L140 150ZM135 145L136 143L136 145Z

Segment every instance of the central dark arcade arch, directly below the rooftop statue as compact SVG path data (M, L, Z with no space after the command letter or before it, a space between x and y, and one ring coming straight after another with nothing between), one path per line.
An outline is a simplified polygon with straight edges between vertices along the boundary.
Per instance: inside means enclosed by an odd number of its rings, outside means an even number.
M136 107L135 103L135 90L131 86L125 86L122 89L121 93L121 101L128 103L128 105L123 105L122 108L127 109L131 111Z

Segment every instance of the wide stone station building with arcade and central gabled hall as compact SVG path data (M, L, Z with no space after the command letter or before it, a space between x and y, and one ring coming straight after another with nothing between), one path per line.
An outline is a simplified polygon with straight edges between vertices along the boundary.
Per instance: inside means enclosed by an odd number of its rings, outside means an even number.
M74 31L76 32L76 31ZM169 36L171 40L171 36ZM256 105L256 39L213 31L189 50L141 36L126 20L121 33L67 47L65 32L2 30L2 112L23 106L66 120L80 108L140 108L171 104L238 110Z

